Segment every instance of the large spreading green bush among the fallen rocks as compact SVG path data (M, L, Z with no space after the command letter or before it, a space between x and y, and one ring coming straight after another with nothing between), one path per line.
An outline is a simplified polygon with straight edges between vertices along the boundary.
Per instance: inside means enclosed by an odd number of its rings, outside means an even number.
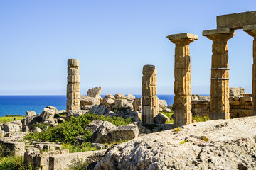
M91 123L93 120L109 121L114 125L127 125L132 123L131 119L124 119L120 117L105 117L104 115L95 115L94 113L87 113L81 115L78 118L71 118L70 121L65 121L60 123L57 127L50 128L48 130L43 130L38 133L30 133L26 135L27 140L42 140L49 142L63 142L73 144L75 142L75 137L83 136L85 140L89 141L92 136L90 130L85 130L85 127Z

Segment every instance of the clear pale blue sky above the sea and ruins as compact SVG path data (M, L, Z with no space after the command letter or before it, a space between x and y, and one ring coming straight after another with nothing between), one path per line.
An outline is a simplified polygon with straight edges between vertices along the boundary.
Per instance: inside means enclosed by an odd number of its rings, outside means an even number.
M65 94L68 58L80 59L81 93L141 94L142 67L158 69L158 94L174 94L174 47L166 35L193 33L193 94L210 94L216 16L255 11L255 1L0 1L0 95ZM230 86L252 91L252 37L229 40Z

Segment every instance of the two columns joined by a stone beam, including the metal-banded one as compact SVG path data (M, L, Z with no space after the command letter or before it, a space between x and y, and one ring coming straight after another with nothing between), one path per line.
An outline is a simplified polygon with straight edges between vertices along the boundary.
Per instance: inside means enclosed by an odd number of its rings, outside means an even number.
M210 119L230 118L228 40L233 38L236 29L242 29L255 38L256 11L217 16L217 29L204 30L203 36L213 40L213 55L210 83ZM252 102L256 99L256 45L253 41ZM254 106L252 115L256 115Z

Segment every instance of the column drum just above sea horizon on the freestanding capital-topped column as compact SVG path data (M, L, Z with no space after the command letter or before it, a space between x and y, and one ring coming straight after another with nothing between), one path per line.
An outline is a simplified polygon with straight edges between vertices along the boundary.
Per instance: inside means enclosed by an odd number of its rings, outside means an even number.
M191 81L174 81L174 94L177 96L191 96Z

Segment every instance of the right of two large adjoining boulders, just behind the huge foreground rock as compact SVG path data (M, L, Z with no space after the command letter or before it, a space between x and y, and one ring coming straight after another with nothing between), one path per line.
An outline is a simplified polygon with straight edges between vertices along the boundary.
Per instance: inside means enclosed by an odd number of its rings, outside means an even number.
M119 142L119 141L126 141L132 140L139 135L139 128L137 125L129 124L129 125L122 125L115 128L110 135L108 135L109 140Z

